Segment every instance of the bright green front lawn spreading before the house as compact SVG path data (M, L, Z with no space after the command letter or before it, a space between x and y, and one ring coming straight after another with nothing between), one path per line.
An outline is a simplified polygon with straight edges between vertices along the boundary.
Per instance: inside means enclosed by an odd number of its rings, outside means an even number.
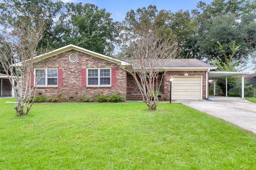
M35 104L0 99L2 169L256 169L256 137L182 104Z

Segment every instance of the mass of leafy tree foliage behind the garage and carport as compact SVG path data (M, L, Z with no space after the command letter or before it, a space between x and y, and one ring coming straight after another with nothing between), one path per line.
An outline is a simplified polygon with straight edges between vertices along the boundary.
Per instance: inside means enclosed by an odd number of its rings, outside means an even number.
M225 61L217 41L222 44L226 55L231 54L229 46L236 41L240 50L234 56L243 63L249 55L255 55L256 47L256 2L246 0L219 1L211 4L199 2L192 11L158 11L155 5L138 8L126 13L121 35L123 51L127 39L134 33L157 29L161 37L171 39L180 47L180 57L215 60L217 56ZM129 45L128 45L129 46Z

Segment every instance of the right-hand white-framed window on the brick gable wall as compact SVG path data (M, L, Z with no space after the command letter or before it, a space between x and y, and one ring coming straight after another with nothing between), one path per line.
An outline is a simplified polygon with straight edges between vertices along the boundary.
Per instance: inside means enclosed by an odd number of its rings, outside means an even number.
M110 86L110 69L88 69L87 86Z

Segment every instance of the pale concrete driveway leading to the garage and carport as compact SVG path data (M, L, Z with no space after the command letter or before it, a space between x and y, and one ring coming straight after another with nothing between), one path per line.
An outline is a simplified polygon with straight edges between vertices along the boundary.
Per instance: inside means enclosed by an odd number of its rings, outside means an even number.
M209 97L212 101L180 102L256 133L256 104L236 97Z

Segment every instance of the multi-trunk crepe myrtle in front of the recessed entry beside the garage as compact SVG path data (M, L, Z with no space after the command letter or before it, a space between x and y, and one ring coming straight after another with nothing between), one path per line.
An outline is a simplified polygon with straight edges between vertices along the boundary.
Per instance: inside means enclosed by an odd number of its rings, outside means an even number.
M125 67L125 70L133 76L143 101L152 110L158 105L157 96L166 72L166 60L177 57L179 53L174 41L159 35L153 30L138 34L128 42L130 46L125 52L125 60L131 64Z

